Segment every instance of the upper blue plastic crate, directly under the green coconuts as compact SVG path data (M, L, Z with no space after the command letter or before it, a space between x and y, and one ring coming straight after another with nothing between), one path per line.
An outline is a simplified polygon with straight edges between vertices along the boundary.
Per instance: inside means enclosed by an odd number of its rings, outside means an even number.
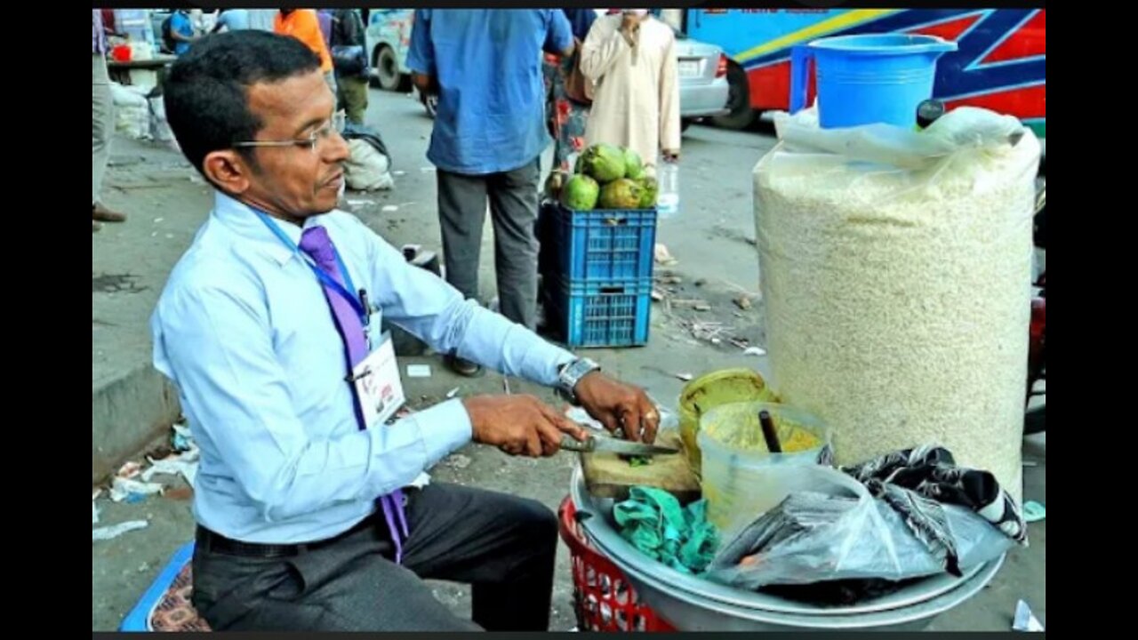
M654 208L572 211L558 205L547 241L558 276L570 281L608 282L652 278Z

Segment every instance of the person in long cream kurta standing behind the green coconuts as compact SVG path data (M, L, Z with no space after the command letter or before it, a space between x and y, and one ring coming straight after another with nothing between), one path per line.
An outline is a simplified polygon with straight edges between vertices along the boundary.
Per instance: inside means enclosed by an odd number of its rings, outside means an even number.
M596 82L585 129L589 145L628 147L645 164L679 158L676 35L646 15L597 18L582 46L582 72Z

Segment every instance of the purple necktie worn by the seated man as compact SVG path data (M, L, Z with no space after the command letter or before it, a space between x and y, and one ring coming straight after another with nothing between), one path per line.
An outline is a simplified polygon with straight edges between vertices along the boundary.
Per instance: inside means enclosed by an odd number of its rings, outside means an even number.
M308 254L320 269L331 276L346 290L344 276L339 269L339 261L336 260L336 247L332 245L332 239L328 237L328 231L323 227L311 227L304 230L304 233L300 236L300 251ZM328 298L328 304L332 309L336 326L339 328L340 336L344 338L344 344L347 347L348 374L351 374L356 364L360 364L368 358L368 339L364 334L363 322L351 302L344 300L344 296L337 289L323 284L323 281L321 284L324 287L324 297ZM368 424L363 418L363 412L360 408L360 397L356 395L354 383L352 384L352 393L356 396L356 422L360 425L360 430L366 429ZM387 528L391 532L391 541L395 543L395 561L401 563L403 560L403 540L410 535L406 515L403 511L403 491L397 489L387 495L381 495L378 502L379 507L384 510ZM398 528L395 526L396 518L399 520Z

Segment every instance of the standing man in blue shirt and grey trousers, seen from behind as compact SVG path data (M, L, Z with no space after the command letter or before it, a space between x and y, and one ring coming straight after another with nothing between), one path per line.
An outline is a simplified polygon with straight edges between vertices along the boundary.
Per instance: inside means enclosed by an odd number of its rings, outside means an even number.
M427 157L437 167L446 279L478 298L489 199L502 314L537 318L538 157L549 146L542 51L569 56L572 28L559 9L417 9L407 66L438 95ZM455 358L460 374L478 368Z

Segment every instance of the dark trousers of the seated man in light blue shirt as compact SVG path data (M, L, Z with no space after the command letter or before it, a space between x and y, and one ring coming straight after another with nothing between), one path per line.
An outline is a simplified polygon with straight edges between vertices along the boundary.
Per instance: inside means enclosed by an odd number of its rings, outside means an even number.
M384 518L283 557L240 555L199 531L193 606L218 631L545 631L556 516L533 500L456 485L407 490L403 564ZM473 585L473 622L422 579Z

